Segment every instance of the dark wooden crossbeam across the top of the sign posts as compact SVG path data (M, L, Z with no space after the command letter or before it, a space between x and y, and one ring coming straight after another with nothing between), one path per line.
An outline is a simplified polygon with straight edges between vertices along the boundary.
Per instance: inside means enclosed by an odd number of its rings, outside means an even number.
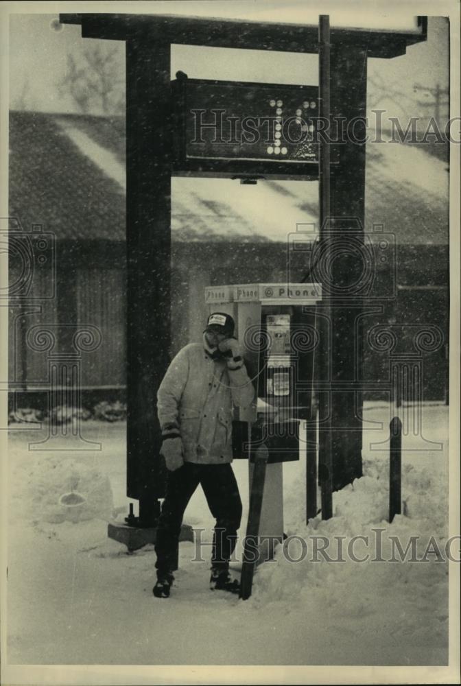
M206 45L249 50L318 52L316 25L213 19L172 14L60 14L64 24L82 25L83 38L126 40L148 37L159 43ZM368 57L405 54L407 45L427 38L427 17L418 17L421 32L331 29L331 42L365 47Z

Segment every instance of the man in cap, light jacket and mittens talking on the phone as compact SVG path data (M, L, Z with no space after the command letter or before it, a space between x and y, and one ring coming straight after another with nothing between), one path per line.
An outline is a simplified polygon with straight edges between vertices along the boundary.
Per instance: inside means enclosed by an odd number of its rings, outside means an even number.
M248 407L255 391L246 372L233 318L211 314L202 344L182 348L158 389L157 411L168 470L167 490L156 534L156 598L167 598L182 517L198 484L216 519L211 589L237 593L229 559L241 519L239 489L231 467L233 406Z

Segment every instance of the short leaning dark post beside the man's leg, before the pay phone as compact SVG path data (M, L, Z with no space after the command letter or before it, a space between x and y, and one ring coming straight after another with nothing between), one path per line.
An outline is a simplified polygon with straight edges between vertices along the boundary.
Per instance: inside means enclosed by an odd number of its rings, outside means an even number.
M241 567L240 578L240 598L247 600L250 598L253 584L253 574L257 562L259 521L261 519L261 508L263 505L265 467L268 464L269 452L265 445L259 446L255 454L255 471L250 492L250 509L248 512L248 524L246 525L246 536L244 545L244 563Z

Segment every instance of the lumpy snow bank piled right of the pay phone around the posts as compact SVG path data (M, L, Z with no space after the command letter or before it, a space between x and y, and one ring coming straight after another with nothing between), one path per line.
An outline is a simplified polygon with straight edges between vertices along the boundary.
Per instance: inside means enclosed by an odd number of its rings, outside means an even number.
M442 646L448 622L446 479L438 469L405 464L405 514L392 523L388 484L388 461L364 460L364 476L333 494L332 519L318 516L306 525L298 510L276 563L257 569L255 608L272 603L292 617L302 613L316 631L344 626L344 641L353 635L355 650L357 641L365 652L368 646L372 661L374 649L391 643L397 654L403 640ZM303 480L292 484L293 501L303 502L303 488Z

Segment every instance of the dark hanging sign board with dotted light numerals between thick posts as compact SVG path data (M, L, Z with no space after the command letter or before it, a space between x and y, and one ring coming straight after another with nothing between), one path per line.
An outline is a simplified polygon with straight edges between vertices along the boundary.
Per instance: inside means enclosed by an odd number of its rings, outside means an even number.
M172 98L176 176L318 178L316 86L182 75Z

